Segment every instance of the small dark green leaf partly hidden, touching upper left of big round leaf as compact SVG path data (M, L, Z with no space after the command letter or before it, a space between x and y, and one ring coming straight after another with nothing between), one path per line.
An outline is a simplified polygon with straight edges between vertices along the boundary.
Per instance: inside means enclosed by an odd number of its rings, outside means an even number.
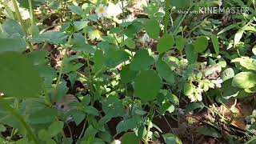
M122 70L120 72L121 76L121 82L123 83L129 83L134 81L134 78L137 75L137 71L130 70L130 65L122 67Z

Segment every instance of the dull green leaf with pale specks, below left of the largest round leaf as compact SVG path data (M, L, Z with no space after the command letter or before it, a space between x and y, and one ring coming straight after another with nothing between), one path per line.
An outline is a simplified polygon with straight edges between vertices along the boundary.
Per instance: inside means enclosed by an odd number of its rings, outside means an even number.
M102 109L105 114L110 115L111 117L118 117L125 114L125 108L122 101L113 96L104 98L102 101Z

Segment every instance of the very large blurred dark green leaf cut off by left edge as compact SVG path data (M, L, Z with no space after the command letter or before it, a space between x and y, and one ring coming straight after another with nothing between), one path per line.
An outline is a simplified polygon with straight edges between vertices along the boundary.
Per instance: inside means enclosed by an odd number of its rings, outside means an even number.
M22 54L0 53L0 90L10 97L37 97L42 90L38 70Z

